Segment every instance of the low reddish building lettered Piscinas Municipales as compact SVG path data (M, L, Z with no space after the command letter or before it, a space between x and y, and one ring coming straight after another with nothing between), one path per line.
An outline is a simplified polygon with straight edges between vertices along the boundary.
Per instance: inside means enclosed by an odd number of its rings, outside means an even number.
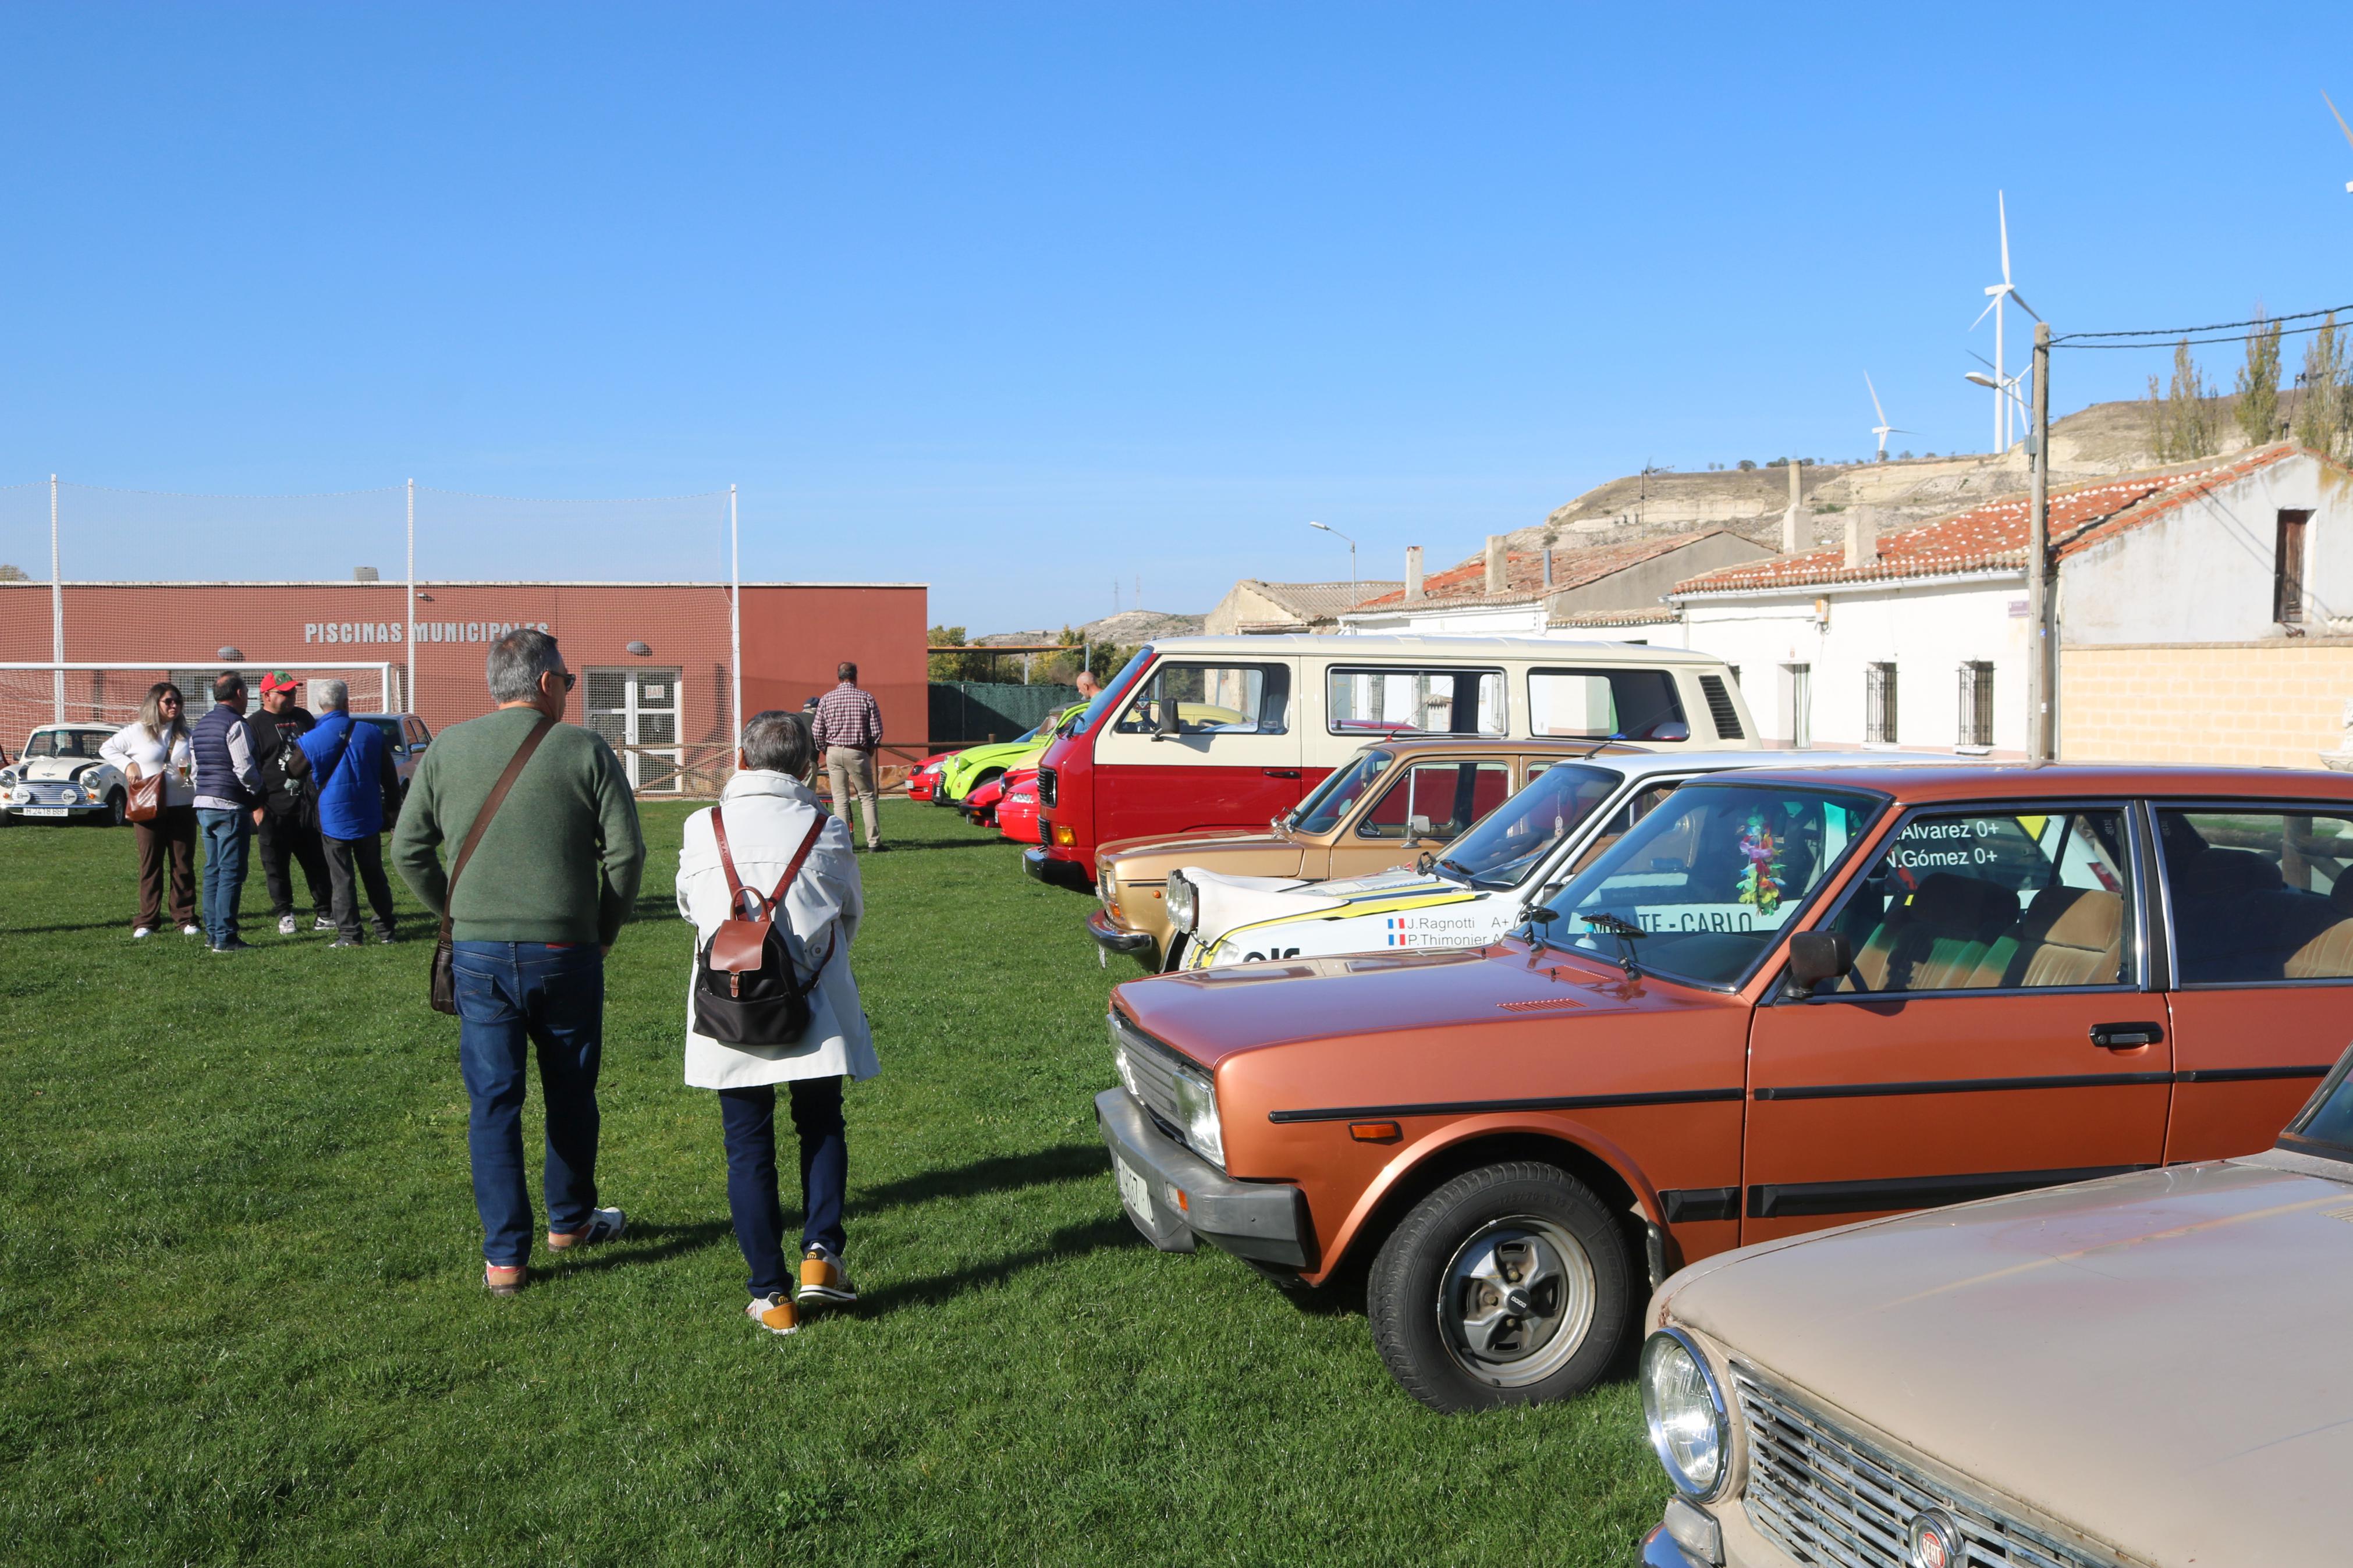
M499 632L539 625L579 675L572 719L605 733L642 792L699 795L734 733L725 583L66 583L66 719L127 722L148 684L224 668L341 675L353 710L409 710L435 731L489 710L482 658ZM920 583L746 583L744 708L800 708L849 658L885 731L927 724ZM0 583L0 663L52 661L47 583ZM132 665L132 668L120 668ZM358 668L332 668L358 665ZM9 755L56 705L49 670L0 670Z

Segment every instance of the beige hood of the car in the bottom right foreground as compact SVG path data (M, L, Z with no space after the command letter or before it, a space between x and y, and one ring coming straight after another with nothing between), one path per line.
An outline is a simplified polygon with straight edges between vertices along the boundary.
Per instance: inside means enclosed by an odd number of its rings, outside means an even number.
M1661 1295L1795 1394L2132 1556L2341 1561L2348 1182L2292 1154L2146 1171L1767 1244Z

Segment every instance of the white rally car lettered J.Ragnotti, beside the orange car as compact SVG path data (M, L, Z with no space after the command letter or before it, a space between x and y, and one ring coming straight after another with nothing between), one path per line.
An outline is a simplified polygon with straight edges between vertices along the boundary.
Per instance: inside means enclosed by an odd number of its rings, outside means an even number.
M1487 820L1398 867L1346 882L1224 877L1198 865L1169 875L1167 910L1184 936L1169 969L1266 959L1480 947L1527 919L1586 860L1617 844L1675 785L1727 769L1887 766L1969 762L1951 752L1652 752L1555 762Z

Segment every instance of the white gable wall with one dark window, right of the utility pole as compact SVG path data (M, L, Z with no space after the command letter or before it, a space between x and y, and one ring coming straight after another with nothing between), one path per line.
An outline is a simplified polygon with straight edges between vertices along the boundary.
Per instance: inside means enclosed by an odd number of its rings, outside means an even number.
M2271 618L2282 508L2304 531L2304 621L2353 616L2353 484L2313 456L2289 456L2238 484L2080 550L2059 564L2059 618L2080 646L2257 642Z

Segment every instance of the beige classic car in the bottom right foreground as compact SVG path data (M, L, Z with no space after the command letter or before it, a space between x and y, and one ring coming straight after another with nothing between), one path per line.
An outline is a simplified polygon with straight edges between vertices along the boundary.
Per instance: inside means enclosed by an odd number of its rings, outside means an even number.
M2353 1051L2264 1152L1772 1241L1668 1279L1640 1371L1675 1495L1642 1561L2339 1561L2348 1067Z

